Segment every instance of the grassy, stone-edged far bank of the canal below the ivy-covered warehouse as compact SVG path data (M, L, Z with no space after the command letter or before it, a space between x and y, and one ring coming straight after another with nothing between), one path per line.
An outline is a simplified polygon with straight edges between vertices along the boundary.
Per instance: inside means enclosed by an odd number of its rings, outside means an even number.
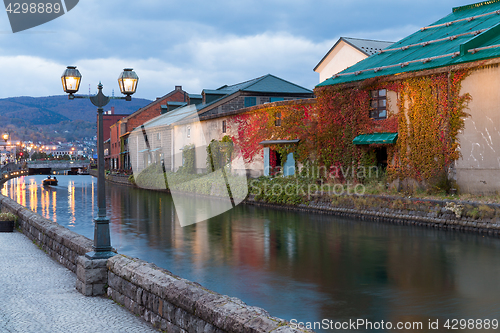
M107 175L111 183L122 184L124 176ZM127 185L131 184L127 180ZM270 188L269 191L273 189ZM163 190L165 191L165 190ZM168 190L167 190L168 191ZM307 193L307 192L306 192ZM212 196L213 197L213 196ZM244 204L281 210L330 214L371 222L414 225L437 229L477 232L498 236L500 233L500 205L471 200L430 199L388 195L325 194L319 191L283 203L279 196L249 194ZM297 197L294 195L294 197Z

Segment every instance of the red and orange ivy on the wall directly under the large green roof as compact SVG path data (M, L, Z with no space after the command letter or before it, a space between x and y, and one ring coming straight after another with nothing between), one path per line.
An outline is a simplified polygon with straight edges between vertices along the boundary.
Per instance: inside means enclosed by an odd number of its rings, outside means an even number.
M352 140L359 134L398 132L388 145L388 177L414 179L433 186L446 178L448 168L460 157L458 134L464 128L471 97L460 95L467 71L379 82L361 88L330 86L316 89L320 162L329 166L360 165L366 150ZM399 112L385 120L369 118L369 91L397 93Z

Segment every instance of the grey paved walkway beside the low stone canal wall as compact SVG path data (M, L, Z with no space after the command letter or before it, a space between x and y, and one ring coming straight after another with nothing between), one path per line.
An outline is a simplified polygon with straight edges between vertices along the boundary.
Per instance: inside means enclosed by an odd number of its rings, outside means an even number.
M0 233L0 332L158 332L104 297L84 297L76 275L19 232Z

